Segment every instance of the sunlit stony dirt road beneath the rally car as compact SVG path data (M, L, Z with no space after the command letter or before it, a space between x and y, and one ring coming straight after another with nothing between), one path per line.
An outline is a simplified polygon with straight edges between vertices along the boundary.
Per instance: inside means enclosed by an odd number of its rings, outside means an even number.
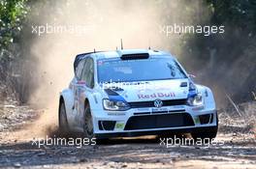
M39 148L33 144L34 133L30 129L37 122L36 116L19 119L24 122L10 121L13 123L10 128L5 122L6 127L0 130L2 168L256 168L255 132L242 125L225 122L220 126L215 141L223 145L167 147L152 136L115 139L80 148L76 145Z

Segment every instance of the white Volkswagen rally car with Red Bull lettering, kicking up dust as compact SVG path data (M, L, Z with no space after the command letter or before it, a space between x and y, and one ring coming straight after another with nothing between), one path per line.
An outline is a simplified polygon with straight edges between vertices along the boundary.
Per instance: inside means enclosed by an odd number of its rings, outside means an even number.
M214 138L210 89L195 84L176 58L157 50L79 54L75 77L60 93L59 127L88 138L191 133Z

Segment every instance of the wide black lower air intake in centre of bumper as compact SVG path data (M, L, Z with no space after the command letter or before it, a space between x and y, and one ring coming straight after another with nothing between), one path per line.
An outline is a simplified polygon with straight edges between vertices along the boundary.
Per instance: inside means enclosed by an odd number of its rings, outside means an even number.
M194 122L188 113L175 113L133 116L128 120L124 130L190 126L194 126Z

